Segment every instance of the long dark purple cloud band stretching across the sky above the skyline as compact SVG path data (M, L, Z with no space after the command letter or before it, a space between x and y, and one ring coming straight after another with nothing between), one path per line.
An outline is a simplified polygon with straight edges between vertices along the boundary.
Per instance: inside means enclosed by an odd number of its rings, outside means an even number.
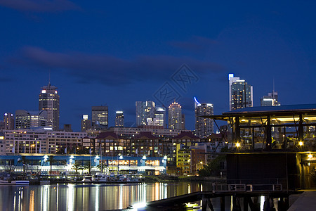
M110 86L143 81L166 81L183 63L197 75L225 71L220 64L187 57L136 56L122 59L78 52L51 52L32 46L25 47L22 50L22 57L13 62L37 68L63 70L68 75L77 77L78 82L99 82Z

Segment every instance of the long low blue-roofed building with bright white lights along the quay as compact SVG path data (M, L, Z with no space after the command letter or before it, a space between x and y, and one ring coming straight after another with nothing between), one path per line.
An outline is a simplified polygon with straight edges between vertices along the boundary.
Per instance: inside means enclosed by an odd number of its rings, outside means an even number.
M55 162L52 165L52 172L50 163L47 162L48 156L53 155ZM100 156L100 155L56 155L53 153L41 154L23 154L25 159L28 160L28 165L25 168L27 174L31 172L40 172L41 175L45 174L74 174L75 170L71 165L75 163L81 167L91 165L91 173L100 173L101 170L97 166L102 166L103 170L106 168L109 172L135 172L138 174L159 175L166 174L166 158L164 157L150 157L140 156L131 157L127 155L122 156ZM23 172L22 155L0 155L0 170L4 171L11 168L15 173ZM88 168L78 171L79 174L88 174Z

